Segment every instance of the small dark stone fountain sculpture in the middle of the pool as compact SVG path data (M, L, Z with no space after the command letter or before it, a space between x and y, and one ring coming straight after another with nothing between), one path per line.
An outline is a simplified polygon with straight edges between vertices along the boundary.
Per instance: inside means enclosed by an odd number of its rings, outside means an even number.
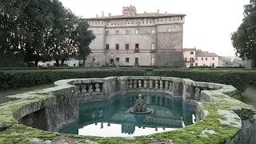
M138 94L134 107L131 107L128 111L131 114L150 114L153 112L150 108L146 108L146 102L142 99L142 94Z

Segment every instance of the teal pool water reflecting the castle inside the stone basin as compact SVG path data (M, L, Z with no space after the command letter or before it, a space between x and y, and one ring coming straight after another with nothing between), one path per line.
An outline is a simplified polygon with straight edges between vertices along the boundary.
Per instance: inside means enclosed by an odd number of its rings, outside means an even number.
M152 114L128 112L142 94ZM196 120L195 105L186 105L182 98L169 94L132 93L115 96L110 102L87 102L79 106L79 120L59 130L60 133L101 137L134 137L178 130Z

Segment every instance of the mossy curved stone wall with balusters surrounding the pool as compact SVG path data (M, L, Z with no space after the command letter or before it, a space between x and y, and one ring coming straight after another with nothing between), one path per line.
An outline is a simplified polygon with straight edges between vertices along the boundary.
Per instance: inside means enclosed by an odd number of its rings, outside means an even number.
M233 86L194 82L186 78L147 76L67 79L55 82L55 85L45 90L9 96L10 102L0 105L0 143L19 143L17 140L21 138L20 143L63 142L66 138L70 139L68 142L81 143L256 142L253 137L256 110L229 97L236 92ZM180 97L186 102L196 102L198 122L181 130L133 139L53 133L78 120L79 103L109 101L116 94L151 90Z

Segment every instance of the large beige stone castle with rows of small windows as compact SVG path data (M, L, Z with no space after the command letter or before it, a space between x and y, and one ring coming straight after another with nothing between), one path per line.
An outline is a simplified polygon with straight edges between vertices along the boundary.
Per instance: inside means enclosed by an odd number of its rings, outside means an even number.
M122 15L86 18L96 36L86 65L184 66L183 24L186 14L138 14L134 6Z

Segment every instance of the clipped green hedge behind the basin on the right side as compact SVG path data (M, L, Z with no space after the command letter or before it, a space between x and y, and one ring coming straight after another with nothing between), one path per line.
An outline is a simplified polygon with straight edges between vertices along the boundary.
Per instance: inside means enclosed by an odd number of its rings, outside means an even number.
M153 75L222 83L232 85L238 90L246 90L247 86L256 85L256 71L254 70L154 70Z

